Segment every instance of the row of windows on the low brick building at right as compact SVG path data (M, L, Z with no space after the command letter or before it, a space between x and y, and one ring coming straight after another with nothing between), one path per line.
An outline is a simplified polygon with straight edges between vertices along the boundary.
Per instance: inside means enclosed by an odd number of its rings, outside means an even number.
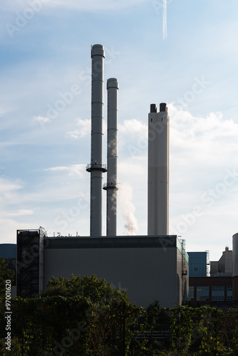
M224 286L212 286L212 302L224 301ZM195 300L195 288L190 286L188 292L188 300ZM197 287L197 301L208 302L209 301L209 286ZM232 300L232 286L227 286L227 300Z

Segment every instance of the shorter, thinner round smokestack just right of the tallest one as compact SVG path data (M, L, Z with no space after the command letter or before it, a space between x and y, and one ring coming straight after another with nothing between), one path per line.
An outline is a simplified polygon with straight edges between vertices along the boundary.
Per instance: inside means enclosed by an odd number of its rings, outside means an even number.
M107 190L107 236L117 234L117 159L118 159L118 89L116 78L107 82L108 89L108 179Z

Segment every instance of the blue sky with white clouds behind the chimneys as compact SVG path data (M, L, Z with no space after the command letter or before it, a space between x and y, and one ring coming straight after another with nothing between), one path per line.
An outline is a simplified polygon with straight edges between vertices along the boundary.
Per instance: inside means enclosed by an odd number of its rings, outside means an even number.
M101 43L105 80L120 86L118 234L127 234L128 216L136 234L147 234L148 112L166 102L170 234L212 260L232 248L237 1L167 0L165 38L162 0L9 0L0 10L1 243L39 226L88 236L90 46ZM105 234L105 197L103 214Z

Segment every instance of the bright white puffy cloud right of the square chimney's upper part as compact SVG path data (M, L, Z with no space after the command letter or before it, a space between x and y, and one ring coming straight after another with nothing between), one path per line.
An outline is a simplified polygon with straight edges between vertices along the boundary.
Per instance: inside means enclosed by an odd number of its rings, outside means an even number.
M210 112L207 117L195 117L186 110L170 112L170 147L172 157L180 162L196 162L201 168L232 167L238 154L238 125L224 120L221 112ZM196 169L196 166L194 166Z

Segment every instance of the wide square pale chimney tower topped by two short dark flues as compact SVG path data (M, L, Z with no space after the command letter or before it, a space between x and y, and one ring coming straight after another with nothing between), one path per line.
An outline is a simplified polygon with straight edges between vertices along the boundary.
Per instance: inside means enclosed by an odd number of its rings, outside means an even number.
M169 234L169 140L167 106L148 115L148 235Z

